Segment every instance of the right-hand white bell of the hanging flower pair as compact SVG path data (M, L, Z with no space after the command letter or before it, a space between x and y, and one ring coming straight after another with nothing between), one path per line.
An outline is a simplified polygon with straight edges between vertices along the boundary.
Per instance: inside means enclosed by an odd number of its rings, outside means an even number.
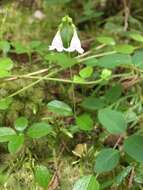
M84 49L81 47L81 42L77 35L76 29L74 29L74 33L73 33L72 40L70 42L70 46L68 48L65 48L65 51L68 51L68 52L77 51L80 54L82 54L84 52Z

